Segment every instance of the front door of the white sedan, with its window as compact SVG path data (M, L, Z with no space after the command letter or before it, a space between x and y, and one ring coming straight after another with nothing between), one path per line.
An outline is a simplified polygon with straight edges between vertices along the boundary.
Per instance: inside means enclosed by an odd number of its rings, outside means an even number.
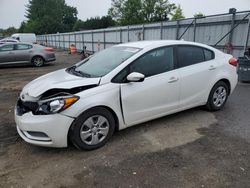
M174 48L163 47L141 56L120 76L139 72L143 82L121 84L121 103L125 123L133 125L165 115L179 106L179 74L175 69Z

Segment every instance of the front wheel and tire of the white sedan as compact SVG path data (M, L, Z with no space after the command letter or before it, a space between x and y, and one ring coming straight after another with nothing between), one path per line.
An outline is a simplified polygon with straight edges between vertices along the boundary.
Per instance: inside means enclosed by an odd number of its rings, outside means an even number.
M92 108L80 115L70 128L70 141L78 149L94 150L104 146L115 130L115 120L108 110Z

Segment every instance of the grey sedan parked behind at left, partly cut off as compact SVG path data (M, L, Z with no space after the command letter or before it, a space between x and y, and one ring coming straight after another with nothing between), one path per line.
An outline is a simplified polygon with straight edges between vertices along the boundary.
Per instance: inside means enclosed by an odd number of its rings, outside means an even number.
M55 60L53 48L21 42L0 45L0 65L29 63L41 67L44 63Z

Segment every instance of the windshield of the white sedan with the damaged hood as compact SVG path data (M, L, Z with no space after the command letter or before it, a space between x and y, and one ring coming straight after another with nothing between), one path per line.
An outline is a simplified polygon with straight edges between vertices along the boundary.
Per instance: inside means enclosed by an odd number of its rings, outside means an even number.
M75 72L88 75L88 77L104 76L136 54L139 50L139 48L132 47L108 48L77 64Z

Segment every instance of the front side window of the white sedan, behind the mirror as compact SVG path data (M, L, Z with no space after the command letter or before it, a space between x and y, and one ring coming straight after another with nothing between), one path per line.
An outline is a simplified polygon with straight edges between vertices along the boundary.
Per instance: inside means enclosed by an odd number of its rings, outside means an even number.
M153 50L128 65L112 82L126 82L126 77L132 72L139 72L145 77L161 74L174 69L174 50L173 47L164 47Z

